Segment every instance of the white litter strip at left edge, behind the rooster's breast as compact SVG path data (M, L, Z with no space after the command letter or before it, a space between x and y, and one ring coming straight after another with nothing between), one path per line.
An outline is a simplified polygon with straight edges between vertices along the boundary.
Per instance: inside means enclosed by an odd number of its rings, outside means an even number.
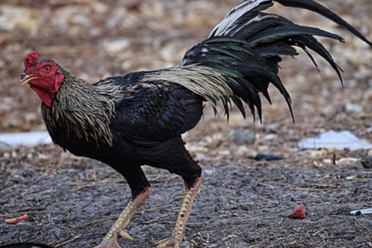
M52 138L47 131L0 133L0 142L12 147L20 145L36 146L39 144L50 144Z

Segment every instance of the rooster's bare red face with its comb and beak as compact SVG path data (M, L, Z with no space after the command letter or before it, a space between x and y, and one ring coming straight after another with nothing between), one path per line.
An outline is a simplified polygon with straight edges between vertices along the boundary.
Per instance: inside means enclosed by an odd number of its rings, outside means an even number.
M63 82L64 73L53 61L40 61L39 53L31 52L24 60L24 73L30 76L30 88L38 94L47 106L52 107L56 94Z

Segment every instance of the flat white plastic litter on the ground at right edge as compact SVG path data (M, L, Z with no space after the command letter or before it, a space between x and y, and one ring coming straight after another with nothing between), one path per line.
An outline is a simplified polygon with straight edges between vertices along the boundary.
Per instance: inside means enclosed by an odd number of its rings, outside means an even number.
M350 131L326 131L318 136L305 138L298 143L302 149L335 148L342 150L372 149L372 144L358 138Z

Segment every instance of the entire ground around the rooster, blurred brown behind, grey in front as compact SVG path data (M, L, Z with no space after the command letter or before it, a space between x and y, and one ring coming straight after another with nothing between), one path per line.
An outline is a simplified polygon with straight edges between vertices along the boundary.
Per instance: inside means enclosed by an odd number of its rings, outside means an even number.
M0 3L0 132L44 130L40 100L19 86L31 50L91 81L132 70L177 64L239 0L9 0ZM372 39L370 0L321 1ZM281 95L271 90L262 124L233 112L203 120L185 135L204 181L186 229L185 248L368 248L372 170L368 150L301 150L298 142L326 130L349 130L372 142L372 50L309 11L276 4L296 22L341 34L346 44L321 40L344 69L344 87L325 62L321 76L306 56L281 63L293 100L293 124ZM254 140L248 139L253 135ZM282 156L260 161L257 154ZM174 227L184 187L181 178L145 167L152 194L129 225L134 241L151 247ZM353 180L350 179L353 177ZM130 191L106 165L64 153L54 145L0 144L0 245L37 242L55 247L98 245ZM303 204L307 218L288 215ZM17 225L5 219L28 214Z

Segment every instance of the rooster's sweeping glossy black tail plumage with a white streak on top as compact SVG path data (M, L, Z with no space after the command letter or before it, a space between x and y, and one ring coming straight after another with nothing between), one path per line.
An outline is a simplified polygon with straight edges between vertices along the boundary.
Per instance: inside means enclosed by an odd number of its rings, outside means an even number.
M245 0L229 12L213 29L207 40L191 48L181 62L181 66L198 64L220 71L226 85L233 92L233 96L226 95L215 99L216 101L223 99L222 104L227 116L232 101L246 117L243 101L248 104L253 117L255 109L257 110L261 120L259 93L262 93L271 104L268 93L268 86L271 83L285 98L294 120L290 95L277 74L282 56L298 55L295 47L305 51L319 73L318 65L310 51L322 57L332 66L342 83L342 69L314 36L340 42L344 42L344 39L316 27L297 25L283 16L261 12L274 2L321 14L372 46L372 43L349 23L313 0ZM215 101L212 101L212 105L216 111Z

